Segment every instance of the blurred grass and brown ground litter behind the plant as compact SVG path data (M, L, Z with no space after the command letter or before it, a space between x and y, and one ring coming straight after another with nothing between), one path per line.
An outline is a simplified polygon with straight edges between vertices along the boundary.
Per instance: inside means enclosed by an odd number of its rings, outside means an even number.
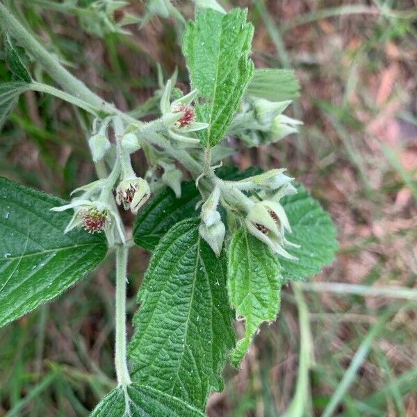
M174 19L97 38L81 28L80 15L47 1L5 3L122 110L152 96L155 60L165 74L178 65L187 88ZM220 3L249 8L256 66L293 67L302 85L292 109L304 121L300 134L255 151L238 145L233 162L288 167L332 214L341 250L331 268L284 289L277 322L262 328L240 373L227 368L208 414L417 416L416 2ZM193 15L192 3L175 5ZM139 1L127 9L144 10ZM48 81L36 63L30 67ZM7 76L0 64L0 78ZM95 178L87 129L71 106L27 92L1 133L0 174L68 198ZM135 165L145 172L142 156ZM129 319L147 259L132 252ZM0 329L0 416L87 416L111 389L112 261Z

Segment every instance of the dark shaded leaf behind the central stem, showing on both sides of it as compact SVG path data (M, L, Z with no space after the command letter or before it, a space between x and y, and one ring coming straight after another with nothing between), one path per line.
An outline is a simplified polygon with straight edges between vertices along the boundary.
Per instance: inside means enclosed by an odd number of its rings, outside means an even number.
M260 174L261 169L250 167L238 171L236 167L223 167L217 170L219 178L238 181L253 175ZM182 183L181 197L177 199L170 188L158 193L138 215L133 229L133 238L136 245L147 250L154 250L165 233L181 220L197 217L195 204L201 199L195 187L195 181Z

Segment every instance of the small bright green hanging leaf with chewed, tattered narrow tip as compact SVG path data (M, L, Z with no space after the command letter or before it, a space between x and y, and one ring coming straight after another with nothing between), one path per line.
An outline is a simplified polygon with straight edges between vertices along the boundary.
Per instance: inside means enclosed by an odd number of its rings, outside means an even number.
M245 336L231 353L239 366L262 322L275 320L281 302L281 274L277 258L265 243L242 227L229 248L227 287L237 318L245 319Z

